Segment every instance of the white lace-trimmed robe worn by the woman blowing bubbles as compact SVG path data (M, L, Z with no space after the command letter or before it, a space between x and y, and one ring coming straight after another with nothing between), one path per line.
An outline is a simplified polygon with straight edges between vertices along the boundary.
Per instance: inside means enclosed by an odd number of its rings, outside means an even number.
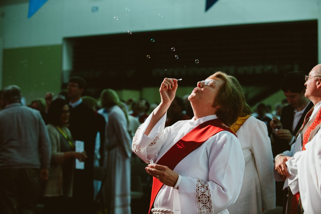
M216 115L178 121L165 126L166 114L144 134L152 114L136 131L133 151L145 163L157 161L181 138L199 124L216 119ZM235 135L221 131L196 148L174 171L179 174L177 189L163 185L154 201L154 208L174 210L174 213L229 213L227 208L236 201L241 190L244 156Z

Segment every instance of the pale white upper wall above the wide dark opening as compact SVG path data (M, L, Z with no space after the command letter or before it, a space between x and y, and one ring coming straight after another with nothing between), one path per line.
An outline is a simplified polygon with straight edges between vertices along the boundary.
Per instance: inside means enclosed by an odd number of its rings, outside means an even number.
M72 36L190 27L321 20L321 0L48 0L30 19L29 3L0 7L4 48L61 44ZM98 6L96 13L92 6ZM130 12L125 8L129 8ZM159 16L162 14L162 17ZM113 19L114 16L118 20ZM321 23L318 23L321 35ZM3 35L1 35L1 33ZM320 51L320 50L319 50ZM319 54L321 62L321 54Z

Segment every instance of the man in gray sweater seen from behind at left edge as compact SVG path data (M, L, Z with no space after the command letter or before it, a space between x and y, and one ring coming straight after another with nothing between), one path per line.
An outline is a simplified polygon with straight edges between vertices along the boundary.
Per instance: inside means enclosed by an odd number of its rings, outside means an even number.
M0 111L0 213L34 213L39 180L48 179L50 142L39 111L20 103L16 85L3 90Z

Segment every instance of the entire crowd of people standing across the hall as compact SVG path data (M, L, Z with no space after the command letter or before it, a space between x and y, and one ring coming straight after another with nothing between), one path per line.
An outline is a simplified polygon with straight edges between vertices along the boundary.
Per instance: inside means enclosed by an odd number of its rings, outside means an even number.
M251 112L223 72L182 98L177 79L165 78L152 104L112 89L97 100L86 87L74 76L67 91L28 106L18 86L0 91L0 213L39 203L42 213L94 213L97 200L108 214L131 213L138 157L152 176L153 214L320 212L321 64L284 76L288 104L274 112L263 103Z

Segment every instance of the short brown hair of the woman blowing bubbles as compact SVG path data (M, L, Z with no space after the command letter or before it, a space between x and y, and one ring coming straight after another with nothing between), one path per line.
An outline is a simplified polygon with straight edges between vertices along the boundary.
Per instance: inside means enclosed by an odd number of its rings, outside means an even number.
M207 79L213 79L214 77L224 81L214 102L214 106L220 106L216 111L216 115L226 125L230 126L238 119L242 111L242 92L235 87L235 84L232 82L232 76L217 71Z

